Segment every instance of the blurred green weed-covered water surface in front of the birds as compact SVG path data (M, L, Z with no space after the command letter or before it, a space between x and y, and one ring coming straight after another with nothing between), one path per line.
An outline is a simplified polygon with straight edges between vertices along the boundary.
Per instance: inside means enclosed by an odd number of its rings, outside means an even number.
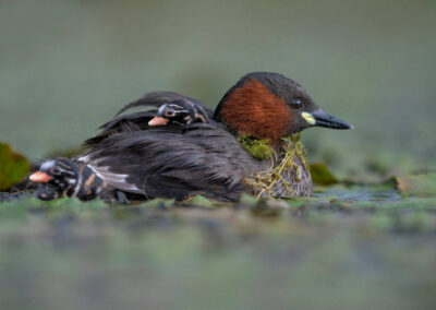
M235 204L4 201L0 301L3 309L432 309L435 238L436 196L389 184Z

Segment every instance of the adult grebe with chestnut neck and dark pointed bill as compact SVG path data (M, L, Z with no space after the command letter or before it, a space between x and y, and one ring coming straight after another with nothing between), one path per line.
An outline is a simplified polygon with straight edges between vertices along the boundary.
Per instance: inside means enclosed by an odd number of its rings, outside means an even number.
M158 108L173 100L187 100L204 110L207 122L148 126ZM138 107L147 110L125 114ZM254 72L226 93L215 115L202 103L170 92L152 93L128 104L85 142L89 151L77 160L108 186L144 199L183 200L203 194L233 201L243 192L257 193L249 180L280 163L280 138L316 126L352 128L324 112L296 82L277 73ZM238 141L240 134L271 138L278 154L275 162L253 157ZM280 171L281 179L269 194L311 194L308 170L298 156L292 159L294 165Z

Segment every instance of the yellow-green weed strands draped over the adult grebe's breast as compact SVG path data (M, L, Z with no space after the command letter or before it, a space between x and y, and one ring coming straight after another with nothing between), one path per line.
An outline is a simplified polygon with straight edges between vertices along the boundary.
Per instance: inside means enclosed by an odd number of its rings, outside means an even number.
M274 151L272 146L270 146L266 140L261 140L256 144L253 144L250 141L245 143L242 142L245 150L247 150L254 157L259 159L271 158L271 167L268 170L255 174L245 179L245 182L252 186L254 192L257 193L257 198L263 195L272 196L272 187L278 184L278 182L280 182L280 186L286 187L289 193L292 193L292 182L301 181L300 169L308 171L306 162L307 153L300 139L300 133L282 138L283 143L278 152ZM250 145L251 147L246 147L246 145ZM262 147L255 147L253 145L261 145ZM267 146L269 146L269 148ZM265 152L265 150L267 150L267 152ZM255 152L253 153L253 151ZM259 157L259 154L262 157ZM266 157L267 154L270 155ZM295 163L295 158L298 158L300 163ZM290 171L293 171L293 179L291 180L283 177L286 172Z

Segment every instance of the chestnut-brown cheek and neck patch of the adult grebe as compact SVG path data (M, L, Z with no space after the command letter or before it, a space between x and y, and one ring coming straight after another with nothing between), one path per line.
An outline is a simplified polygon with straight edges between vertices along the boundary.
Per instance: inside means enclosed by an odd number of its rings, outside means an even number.
M239 134L277 142L289 130L292 115L283 99L257 80L233 88L220 104L219 119Z

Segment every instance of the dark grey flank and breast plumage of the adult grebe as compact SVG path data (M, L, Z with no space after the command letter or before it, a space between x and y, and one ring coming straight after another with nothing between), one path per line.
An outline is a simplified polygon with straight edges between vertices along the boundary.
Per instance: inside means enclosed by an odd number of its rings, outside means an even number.
M144 194L145 199L183 200L203 194L222 201L234 201L243 192L256 194L245 178L272 165L271 159L254 158L215 121L119 133L104 140L80 160L111 187ZM299 158L294 160L303 167ZM310 194L311 176L304 168L287 170L283 176L293 191L278 182L271 190L274 196Z

